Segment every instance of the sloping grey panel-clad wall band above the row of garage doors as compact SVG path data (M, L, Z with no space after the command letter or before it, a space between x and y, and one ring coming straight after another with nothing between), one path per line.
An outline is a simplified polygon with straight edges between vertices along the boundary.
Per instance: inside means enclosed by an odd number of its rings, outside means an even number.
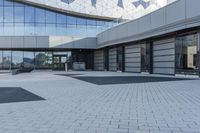
M200 26L200 0L178 0L97 35L99 48Z

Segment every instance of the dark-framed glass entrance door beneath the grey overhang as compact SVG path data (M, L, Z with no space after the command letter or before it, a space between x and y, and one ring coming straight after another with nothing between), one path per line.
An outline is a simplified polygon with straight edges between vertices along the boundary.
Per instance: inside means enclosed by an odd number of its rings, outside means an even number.
M65 63L67 62L67 57L63 55L53 56L53 70L65 70Z

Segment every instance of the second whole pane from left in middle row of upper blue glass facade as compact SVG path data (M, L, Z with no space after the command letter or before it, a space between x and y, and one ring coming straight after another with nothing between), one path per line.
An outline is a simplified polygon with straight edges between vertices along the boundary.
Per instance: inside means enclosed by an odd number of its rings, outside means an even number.
M15 22L24 22L24 7L15 7L14 13Z

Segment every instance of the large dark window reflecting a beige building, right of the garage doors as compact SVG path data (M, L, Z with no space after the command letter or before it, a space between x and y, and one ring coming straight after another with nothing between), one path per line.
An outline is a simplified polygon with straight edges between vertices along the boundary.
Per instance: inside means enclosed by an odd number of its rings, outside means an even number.
M176 38L176 73L197 74L197 34Z

